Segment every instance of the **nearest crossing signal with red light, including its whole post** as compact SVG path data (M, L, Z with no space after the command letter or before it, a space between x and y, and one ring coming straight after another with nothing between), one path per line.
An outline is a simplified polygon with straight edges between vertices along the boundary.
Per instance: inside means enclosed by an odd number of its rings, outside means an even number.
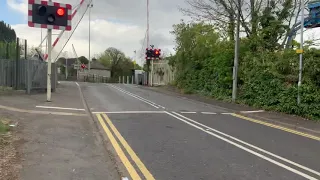
M28 1L28 26L48 30L47 101L51 101L52 29L70 31L72 6L48 1Z

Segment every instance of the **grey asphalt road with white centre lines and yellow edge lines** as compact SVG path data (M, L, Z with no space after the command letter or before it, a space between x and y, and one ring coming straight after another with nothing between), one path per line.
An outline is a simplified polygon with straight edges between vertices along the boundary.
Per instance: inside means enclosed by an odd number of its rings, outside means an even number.
M135 85L80 87L130 179L320 179L317 137Z

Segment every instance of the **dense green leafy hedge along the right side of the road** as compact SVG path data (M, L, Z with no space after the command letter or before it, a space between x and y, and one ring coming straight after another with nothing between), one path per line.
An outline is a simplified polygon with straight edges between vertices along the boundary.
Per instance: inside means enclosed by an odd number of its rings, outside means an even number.
M270 24L268 31L275 27ZM177 52L168 59L177 70L175 83L184 93L228 101L234 43L222 40L214 29L204 23L175 25ZM320 120L320 50L310 49L304 54L302 103L298 106L299 57L294 50L270 49L273 37L270 38L260 44L262 48L257 45L261 42L259 37L241 39L238 101Z

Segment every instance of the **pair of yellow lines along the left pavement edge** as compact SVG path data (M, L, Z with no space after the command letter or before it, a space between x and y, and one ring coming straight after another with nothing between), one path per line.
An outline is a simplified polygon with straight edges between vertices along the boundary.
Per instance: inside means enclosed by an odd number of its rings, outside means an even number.
M96 116L97 116L97 118L98 118L98 120L99 120L99 122L100 122L100 124L101 124L101 126L103 128L103 130L107 134L107 136L108 136L112 146L114 147L116 153L118 154L120 160L122 161L122 163L126 167L127 171L129 172L131 178L133 180L141 180L141 177L139 176L138 172L136 171L136 169L133 167L133 165L129 161L128 157L123 152L123 150L122 150L121 146L119 145L118 141L116 140L115 136L119 140L120 144L122 144L124 149L128 152L128 154L130 155L131 159L137 165L137 167L139 168L141 173L144 175L144 177L146 179L148 179L148 180L149 179L150 180L155 180L154 177L152 176L152 174L146 168L146 166L142 163L140 158L136 155L136 153L132 150L132 148L129 146L127 141L122 137L120 132L113 125L113 123L111 122L109 117L106 114L96 114ZM107 122L108 126L110 127L110 129L109 129L109 127L107 126L107 124L105 123L105 121L103 119L106 120L106 122Z

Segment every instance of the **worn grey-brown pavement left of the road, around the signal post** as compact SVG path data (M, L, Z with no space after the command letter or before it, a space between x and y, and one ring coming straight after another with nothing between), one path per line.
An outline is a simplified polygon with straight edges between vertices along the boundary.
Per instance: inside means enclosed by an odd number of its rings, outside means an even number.
M74 82L61 83L52 102L46 94L19 93L0 96L0 105L0 115L17 123L20 179L120 179L94 122L77 110L84 105Z

